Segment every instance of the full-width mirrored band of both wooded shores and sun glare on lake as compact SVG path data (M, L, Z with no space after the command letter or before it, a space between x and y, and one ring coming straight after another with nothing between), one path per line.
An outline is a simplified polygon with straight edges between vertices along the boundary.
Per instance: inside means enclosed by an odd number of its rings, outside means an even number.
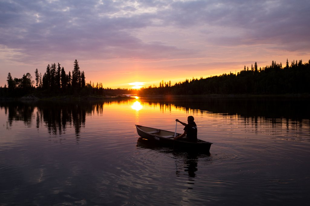
M287 131L295 131L310 124L309 100L281 99L219 99L192 98L167 100L122 100L122 101L0 101L0 108L7 116L7 128L13 121L21 121L27 127L33 122L36 128L47 127L50 134L62 134L66 127L74 127L79 136L85 127L86 115L103 115L104 106L113 106L120 114L159 109L160 112L186 111L194 115L218 114L242 119L245 127L258 128L262 124ZM121 105L126 105L122 107ZM129 105L129 107L127 106ZM129 111L131 110L131 111ZM147 117L146 117L147 118Z

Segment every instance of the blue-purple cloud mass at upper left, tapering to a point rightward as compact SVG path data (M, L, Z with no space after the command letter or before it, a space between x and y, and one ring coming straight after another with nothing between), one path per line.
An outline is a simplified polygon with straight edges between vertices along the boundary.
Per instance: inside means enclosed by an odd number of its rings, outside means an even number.
M68 54L71 58L140 59L190 54L176 45L135 37L132 30L152 25L155 9L143 12L143 5L131 1L2 2L1 6L0 44L20 49L25 54L22 61Z

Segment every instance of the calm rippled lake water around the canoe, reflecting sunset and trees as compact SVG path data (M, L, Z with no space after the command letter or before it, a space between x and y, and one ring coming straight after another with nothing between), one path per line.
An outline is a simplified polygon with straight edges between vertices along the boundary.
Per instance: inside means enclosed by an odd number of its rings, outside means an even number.
M305 205L310 102L0 102L0 205ZM193 115L210 154L138 142ZM183 133L178 124L177 131Z

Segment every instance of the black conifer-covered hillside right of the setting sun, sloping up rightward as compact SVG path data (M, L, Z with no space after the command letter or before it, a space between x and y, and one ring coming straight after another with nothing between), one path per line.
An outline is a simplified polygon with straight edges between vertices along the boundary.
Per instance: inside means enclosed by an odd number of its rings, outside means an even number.
M282 63L272 61L263 68L255 62L251 68L244 66L240 72L186 79L184 82L160 82L159 87L142 88L139 95L204 95L204 94L297 94L310 93L310 60Z

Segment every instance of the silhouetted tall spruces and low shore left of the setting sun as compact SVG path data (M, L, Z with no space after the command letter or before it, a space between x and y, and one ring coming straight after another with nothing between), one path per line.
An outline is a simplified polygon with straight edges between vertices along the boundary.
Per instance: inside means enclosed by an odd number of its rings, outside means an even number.
M0 87L2 97L21 97L28 94L36 96L55 96L55 95L100 95L116 96L121 94L134 93L132 89L111 89L103 88L102 83L94 84L91 81L86 83L85 73L81 72L78 61L73 62L73 70L67 74L60 63L48 64L45 73L35 70L35 81L32 80L30 73L23 75L22 78L13 78L11 73L7 76L7 85Z

